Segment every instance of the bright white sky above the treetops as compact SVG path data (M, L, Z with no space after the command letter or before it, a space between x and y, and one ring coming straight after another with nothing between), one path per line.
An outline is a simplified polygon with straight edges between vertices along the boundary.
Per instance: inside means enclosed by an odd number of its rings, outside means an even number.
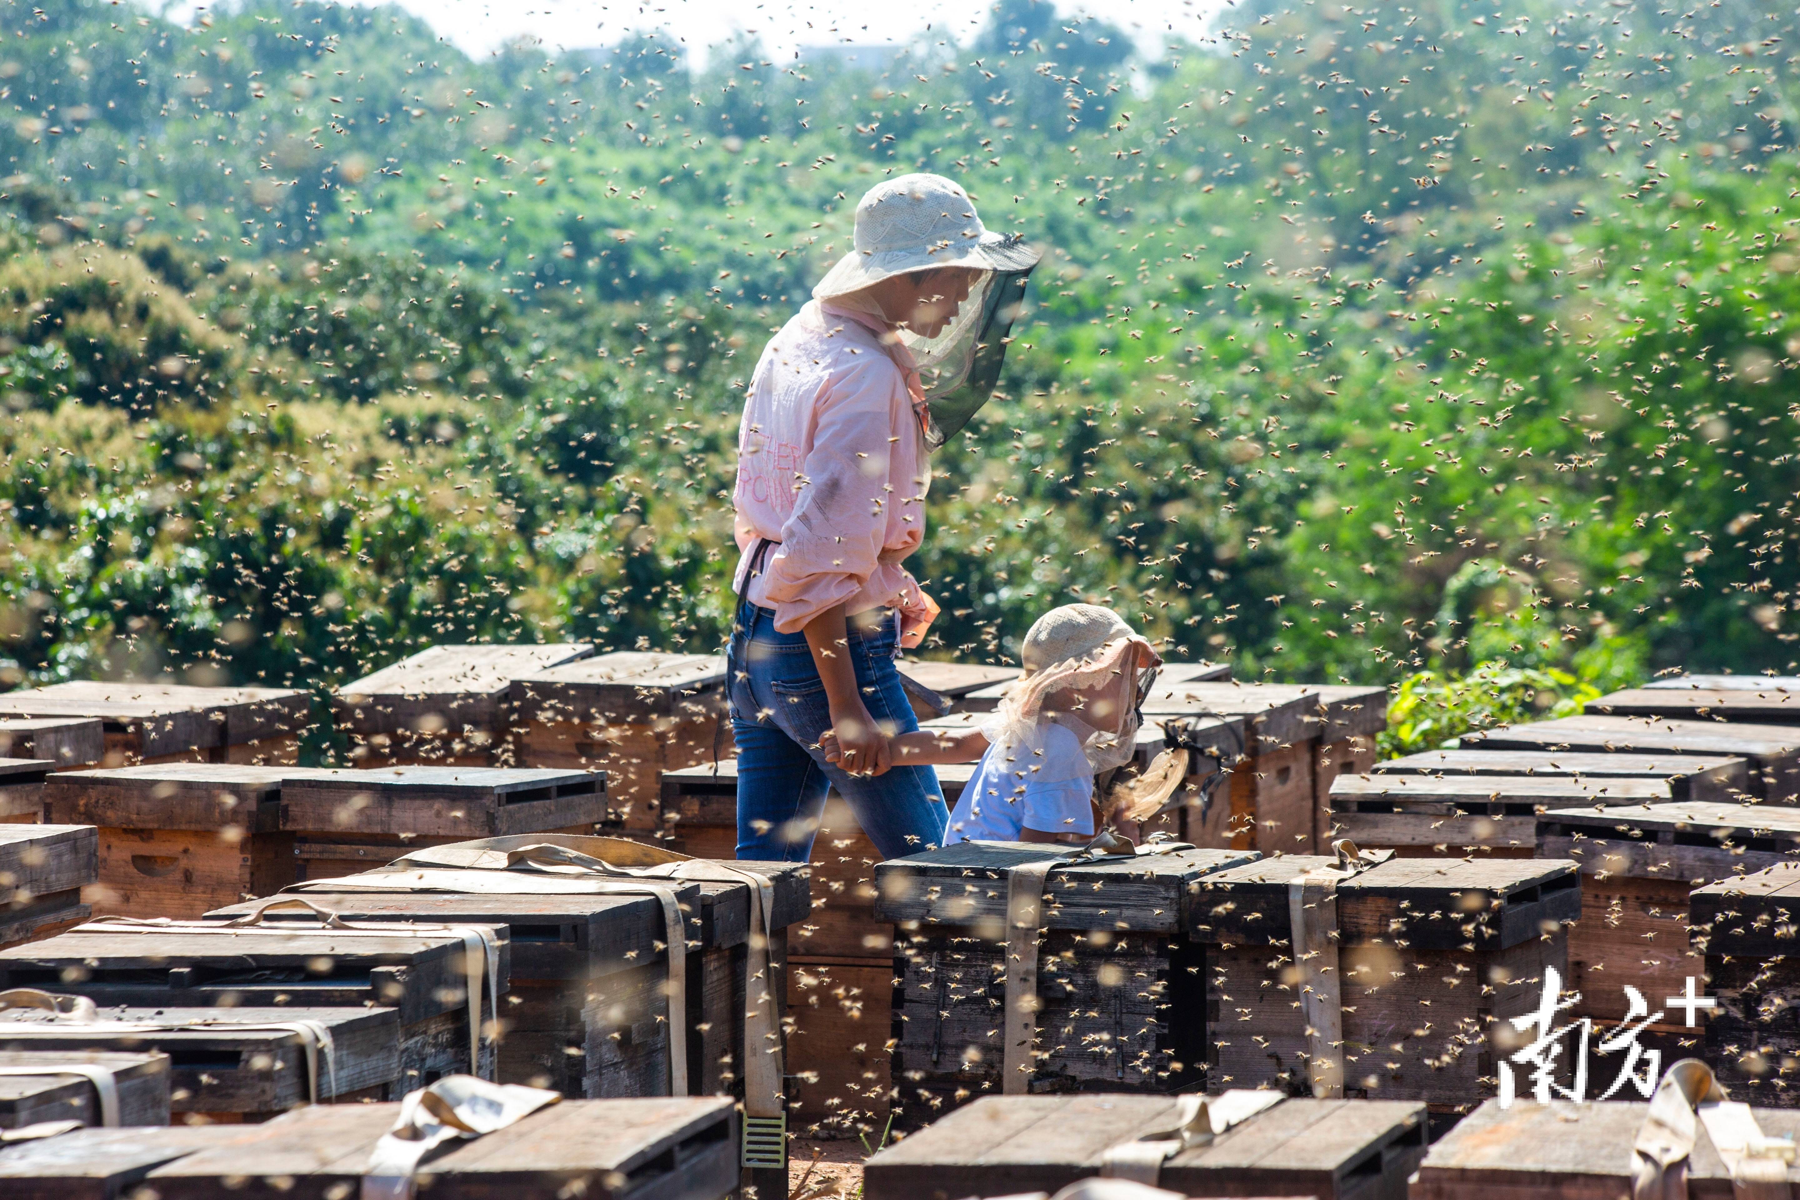
M362 0L353 0L362 2ZM1199 38L1204 16L1229 0L1057 0L1062 16L1093 11L1121 25L1141 47L1156 52L1163 38ZM538 38L547 50L610 45L630 31L666 29L704 59L709 45L734 31L754 32L763 45L790 58L803 45L911 41L945 31L967 40L983 25L988 4L909 0L664 0L662 4L616 4L603 0L398 0L400 7L425 18L441 38L468 54L484 54L513 38ZM176 20L205 4L178 0L169 5ZM929 29L927 29L929 27Z

